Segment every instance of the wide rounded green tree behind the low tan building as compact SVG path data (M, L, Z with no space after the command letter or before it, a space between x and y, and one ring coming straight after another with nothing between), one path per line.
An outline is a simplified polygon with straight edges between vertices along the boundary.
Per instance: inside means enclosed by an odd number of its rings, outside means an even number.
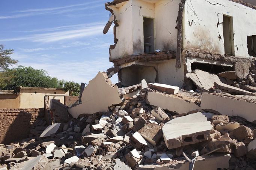
M2 82L2 83L1 83ZM1 89L15 89L24 87L57 87L58 79L51 78L45 70L36 70L32 67L18 66L6 69L0 74Z

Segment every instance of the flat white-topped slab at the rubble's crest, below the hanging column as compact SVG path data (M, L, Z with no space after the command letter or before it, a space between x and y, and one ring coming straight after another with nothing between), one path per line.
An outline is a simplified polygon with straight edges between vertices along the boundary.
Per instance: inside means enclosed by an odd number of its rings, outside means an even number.
M166 94L177 94L179 92L179 87L167 84L148 83L148 86L160 92L166 92Z

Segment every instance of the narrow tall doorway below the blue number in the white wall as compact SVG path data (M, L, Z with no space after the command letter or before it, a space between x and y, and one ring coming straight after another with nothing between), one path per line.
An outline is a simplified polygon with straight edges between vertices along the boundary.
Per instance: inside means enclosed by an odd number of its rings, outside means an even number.
M225 54L234 54L233 18L223 15L223 37Z

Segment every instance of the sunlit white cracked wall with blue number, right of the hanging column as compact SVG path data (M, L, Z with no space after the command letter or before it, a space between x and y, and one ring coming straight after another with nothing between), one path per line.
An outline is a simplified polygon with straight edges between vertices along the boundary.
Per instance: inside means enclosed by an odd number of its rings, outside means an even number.
M256 10L229 0L189 0L184 14L184 48L224 54L222 21L228 15L233 17L235 56L250 57L247 36L256 35Z

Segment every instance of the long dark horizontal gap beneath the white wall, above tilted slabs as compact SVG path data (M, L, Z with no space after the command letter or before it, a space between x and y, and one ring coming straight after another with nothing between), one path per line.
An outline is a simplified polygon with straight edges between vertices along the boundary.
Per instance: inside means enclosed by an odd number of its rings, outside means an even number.
M206 63L197 63L197 62L191 63L191 69L192 71L198 69L204 72L209 72L214 74L218 74L226 71L233 71L233 67L230 67L230 66L218 66L215 64L206 64Z

